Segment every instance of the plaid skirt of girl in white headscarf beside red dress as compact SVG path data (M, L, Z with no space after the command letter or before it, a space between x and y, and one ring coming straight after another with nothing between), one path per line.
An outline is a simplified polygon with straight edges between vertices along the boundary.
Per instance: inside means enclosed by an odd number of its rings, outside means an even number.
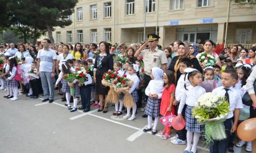
M161 104L161 99L148 97L147 103L146 103L145 114L148 116L152 116L152 117L159 116L160 115L160 104Z

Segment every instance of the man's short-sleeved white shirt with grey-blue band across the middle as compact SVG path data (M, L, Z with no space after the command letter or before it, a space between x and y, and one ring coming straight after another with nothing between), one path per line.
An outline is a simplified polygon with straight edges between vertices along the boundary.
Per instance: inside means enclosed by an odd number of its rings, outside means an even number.
M53 60L57 60L55 51L51 48L45 50L45 48L39 50L37 59L40 59L39 72L52 72Z

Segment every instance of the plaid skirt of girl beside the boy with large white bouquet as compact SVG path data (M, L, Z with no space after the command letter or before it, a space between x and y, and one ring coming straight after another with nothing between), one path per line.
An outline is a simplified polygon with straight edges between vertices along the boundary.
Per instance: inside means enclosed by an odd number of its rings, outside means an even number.
M190 132L204 132L204 125L199 124L197 119L192 116L193 107L187 106L185 111L186 130Z

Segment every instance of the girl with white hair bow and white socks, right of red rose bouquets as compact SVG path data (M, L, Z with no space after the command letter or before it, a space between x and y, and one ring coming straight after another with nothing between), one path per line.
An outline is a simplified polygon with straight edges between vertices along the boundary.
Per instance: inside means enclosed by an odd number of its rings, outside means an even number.
M137 104L136 103L137 103L137 101L139 99L138 92L136 90L137 87L139 86L139 82L140 82L140 79L138 77L139 67L136 64L129 65L128 71L129 71L129 74L127 75L127 79L130 79L130 80L133 81L133 85L132 85L129 93L132 94L132 96L133 96L134 107L133 107L133 114L132 114L132 116L130 115L131 108L127 107L127 114L123 117L123 119L134 120L135 119L136 110L137 110Z

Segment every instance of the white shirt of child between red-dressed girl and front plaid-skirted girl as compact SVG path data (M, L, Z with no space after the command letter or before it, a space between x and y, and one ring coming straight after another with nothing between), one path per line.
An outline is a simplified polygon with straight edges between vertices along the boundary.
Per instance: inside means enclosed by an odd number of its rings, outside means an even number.
M188 75L186 75L186 79L184 80L185 74L181 74L180 79L177 82L177 87L175 89L175 99L179 102L181 99L182 92L184 91L184 84L186 84L186 87L190 85L190 81L188 80L187 76Z

